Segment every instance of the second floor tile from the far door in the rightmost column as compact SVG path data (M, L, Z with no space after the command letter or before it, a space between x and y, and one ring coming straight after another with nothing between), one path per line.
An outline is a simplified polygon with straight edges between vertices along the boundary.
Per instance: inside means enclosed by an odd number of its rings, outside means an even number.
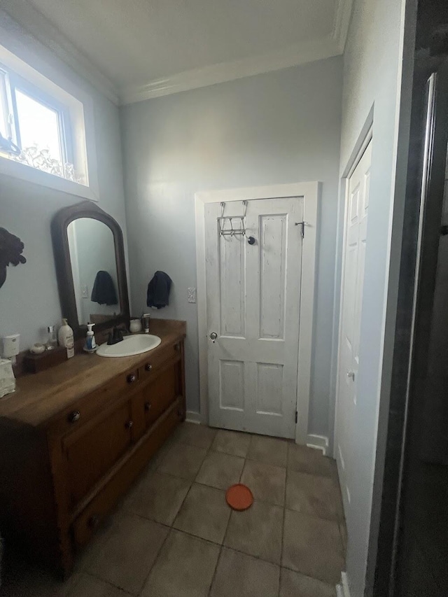
M286 507L328 520L343 518L339 486L332 477L309 475L288 470L286 479Z

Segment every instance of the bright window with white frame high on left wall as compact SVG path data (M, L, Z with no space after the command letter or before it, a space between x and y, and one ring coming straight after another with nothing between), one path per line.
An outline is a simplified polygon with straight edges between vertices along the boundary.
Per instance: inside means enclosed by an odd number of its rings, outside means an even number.
M0 176L98 201L90 92L62 64L17 49L0 45Z

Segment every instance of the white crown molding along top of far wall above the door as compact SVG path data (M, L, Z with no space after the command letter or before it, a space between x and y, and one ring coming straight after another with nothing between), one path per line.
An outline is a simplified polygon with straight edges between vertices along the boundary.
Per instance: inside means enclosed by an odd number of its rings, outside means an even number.
M198 87L216 85L248 76L287 69L307 62L314 62L337 56L342 52L332 35L318 40L297 43L284 50L204 66L200 69L184 71L175 75L150 81L144 85L131 85L120 90L120 104L133 104L154 97L162 97Z

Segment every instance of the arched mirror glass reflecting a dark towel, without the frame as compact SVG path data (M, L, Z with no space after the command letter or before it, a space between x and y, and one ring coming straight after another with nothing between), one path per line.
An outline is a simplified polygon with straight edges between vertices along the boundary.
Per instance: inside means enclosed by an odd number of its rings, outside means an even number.
M94 218L78 218L69 223L67 236L78 325L120 314L112 230Z

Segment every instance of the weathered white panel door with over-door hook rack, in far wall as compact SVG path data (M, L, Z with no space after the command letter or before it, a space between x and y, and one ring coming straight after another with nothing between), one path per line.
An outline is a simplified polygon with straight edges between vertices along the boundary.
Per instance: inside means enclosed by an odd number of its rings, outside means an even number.
M225 204L225 217L243 213ZM246 237L221 235L220 218L207 204L209 423L295 437L303 198L248 201Z

